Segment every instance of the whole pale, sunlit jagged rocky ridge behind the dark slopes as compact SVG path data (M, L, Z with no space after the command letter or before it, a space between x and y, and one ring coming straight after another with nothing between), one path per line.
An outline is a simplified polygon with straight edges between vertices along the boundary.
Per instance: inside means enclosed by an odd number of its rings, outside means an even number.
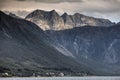
M79 13L74 15L64 13L60 16L55 10L43 11L37 9L28 14L25 19L34 22L43 30L64 30L86 25L104 27L114 25L108 19L93 18Z

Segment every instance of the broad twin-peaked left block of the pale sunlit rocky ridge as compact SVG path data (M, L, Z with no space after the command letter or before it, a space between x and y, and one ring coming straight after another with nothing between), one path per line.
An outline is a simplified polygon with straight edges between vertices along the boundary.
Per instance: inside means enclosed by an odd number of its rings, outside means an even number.
M26 19L36 23L43 30L60 30L64 28L63 19L55 10L50 12L35 10Z

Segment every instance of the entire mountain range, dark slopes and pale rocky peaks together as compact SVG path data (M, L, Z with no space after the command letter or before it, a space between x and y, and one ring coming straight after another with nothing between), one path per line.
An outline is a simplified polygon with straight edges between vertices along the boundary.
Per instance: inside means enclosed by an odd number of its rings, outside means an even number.
M38 25L38 26L37 26ZM120 75L120 24L79 13L0 11L0 72Z

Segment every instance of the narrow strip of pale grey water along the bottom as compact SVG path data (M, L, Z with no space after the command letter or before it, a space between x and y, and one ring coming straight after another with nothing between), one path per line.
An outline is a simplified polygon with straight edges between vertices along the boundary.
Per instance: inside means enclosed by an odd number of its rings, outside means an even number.
M120 77L15 77L0 78L0 80L120 80Z

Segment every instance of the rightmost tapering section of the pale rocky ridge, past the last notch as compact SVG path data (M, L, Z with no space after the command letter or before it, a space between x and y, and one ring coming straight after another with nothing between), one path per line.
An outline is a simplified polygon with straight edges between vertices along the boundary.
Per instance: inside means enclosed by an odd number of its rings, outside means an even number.
M85 26L85 25L89 25L89 26L111 26L112 25L112 22L110 22L107 19L88 17L79 13L74 14L72 17L76 27Z

